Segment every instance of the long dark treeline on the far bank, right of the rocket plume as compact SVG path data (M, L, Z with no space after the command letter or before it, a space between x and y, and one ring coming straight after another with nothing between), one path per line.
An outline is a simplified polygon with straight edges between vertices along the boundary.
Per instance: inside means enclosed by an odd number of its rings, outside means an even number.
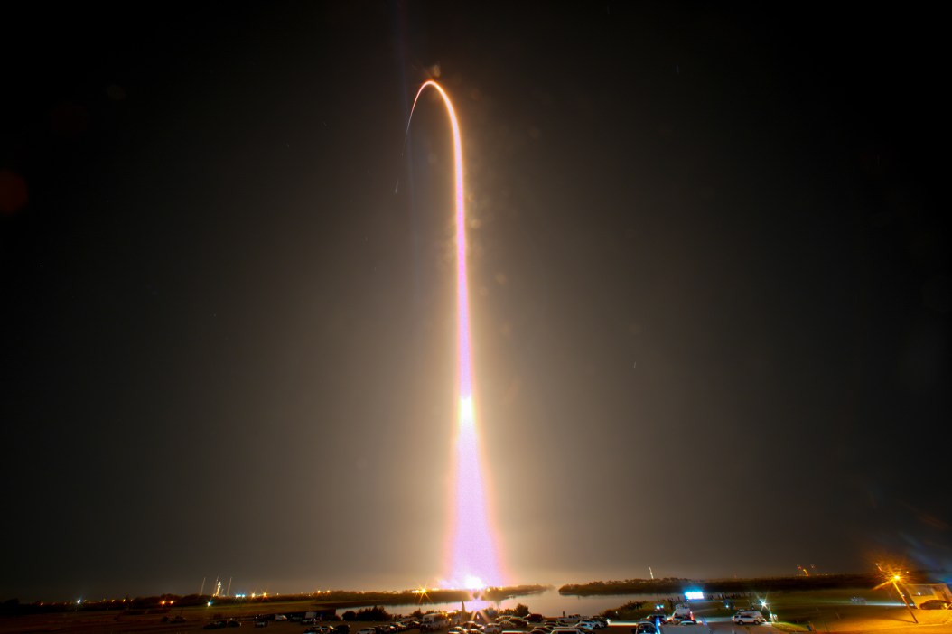
M559 594L590 596L600 594L684 594L698 585L704 594L733 592L782 592L784 590L826 590L831 588L873 587L883 582L875 573L817 575L813 577L763 577L755 579L627 579L625 581L565 584Z

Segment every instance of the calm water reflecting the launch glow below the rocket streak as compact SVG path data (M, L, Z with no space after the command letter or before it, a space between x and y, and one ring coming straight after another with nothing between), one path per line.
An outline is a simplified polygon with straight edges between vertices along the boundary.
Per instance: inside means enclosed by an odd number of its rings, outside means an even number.
M583 616L599 614L607 609L618 607L629 601L654 602L659 598L664 599L667 595L656 594L610 594L594 597L579 597L576 595L562 595L557 589L545 590L535 594L524 594L503 601L466 601L467 610L482 610L486 607L496 609L506 609L515 607L517 604L525 604L530 612L538 612L546 617L558 617L565 614L581 614ZM387 608L394 612L408 614L413 610L420 609L424 612L429 610L451 611L460 609L460 603L450 604L407 604L394 605ZM650 605L648 606L650 609Z

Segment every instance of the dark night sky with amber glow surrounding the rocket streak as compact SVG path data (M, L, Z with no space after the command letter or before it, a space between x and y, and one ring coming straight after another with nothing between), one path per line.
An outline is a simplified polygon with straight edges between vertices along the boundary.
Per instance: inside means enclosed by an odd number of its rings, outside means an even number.
M787 7L6 8L0 599L439 577L437 72L512 582L952 568L944 27Z

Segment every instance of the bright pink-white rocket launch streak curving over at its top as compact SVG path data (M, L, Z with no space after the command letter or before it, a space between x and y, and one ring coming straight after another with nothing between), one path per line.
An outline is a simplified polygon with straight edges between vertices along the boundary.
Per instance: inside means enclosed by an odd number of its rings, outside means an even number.
M489 523L489 507L483 483L476 413L473 402L472 347L469 340L469 291L466 280L466 200L463 193L463 143L456 111L446 91L427 81L417 91L410 118L427 87L436 89L446 105L453 129L453 173L456 196L456 308L457 392L459 421L456 437L455 480L449 508L449 537L444 585L470 589L504 584L496 541ZM407 123L409 126L409 123Z

